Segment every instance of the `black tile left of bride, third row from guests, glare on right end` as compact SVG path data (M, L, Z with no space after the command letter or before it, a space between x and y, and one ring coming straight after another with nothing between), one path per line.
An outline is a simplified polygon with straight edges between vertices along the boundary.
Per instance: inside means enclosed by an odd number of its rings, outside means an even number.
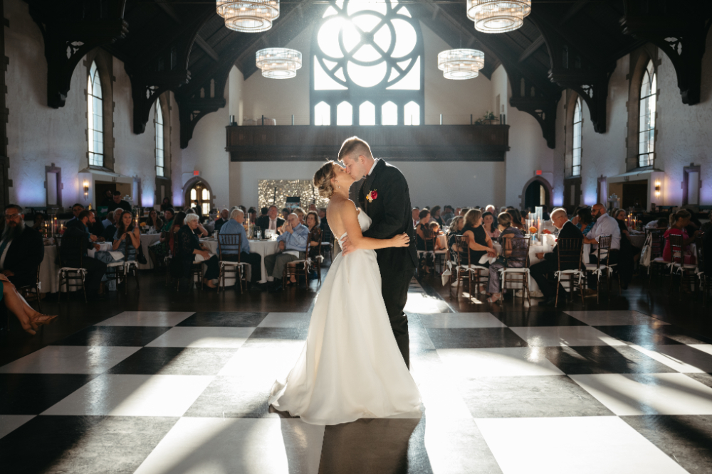
M237 349L142 348L109 371L110 374L217 375Z

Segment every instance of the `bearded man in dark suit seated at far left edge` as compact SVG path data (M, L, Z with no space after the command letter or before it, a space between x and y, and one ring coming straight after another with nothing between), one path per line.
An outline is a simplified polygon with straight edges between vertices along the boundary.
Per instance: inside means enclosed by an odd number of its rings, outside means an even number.
M19 205L5 208L5 229L0 239L0 269L15 286L34 285L44 258L42 235L25 225Z

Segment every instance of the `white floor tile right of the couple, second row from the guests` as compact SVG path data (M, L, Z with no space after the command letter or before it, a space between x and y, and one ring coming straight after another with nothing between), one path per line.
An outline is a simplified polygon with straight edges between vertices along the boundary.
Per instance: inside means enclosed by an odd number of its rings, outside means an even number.
M510 328L530 346L627 345L590 326L530 326Z

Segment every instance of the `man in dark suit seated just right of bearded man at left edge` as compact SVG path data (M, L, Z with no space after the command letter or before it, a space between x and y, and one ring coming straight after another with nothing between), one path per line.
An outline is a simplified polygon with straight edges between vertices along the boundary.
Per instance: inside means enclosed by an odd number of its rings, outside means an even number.
M95 250L99 250L99 244L95 244L90 240L90 237L94 236L90 235L87 230L89 215L89 211L82 211L78 215L78 224L80 225L67 226L67 230L65 230L64 236L62 237L62 244L59 247L59 253L61 255L63 266L79 268L81 265L87 270L87 274L84 278L87 299L96 301L102 299L99 295L99 286L104 274L106 273L106 263L102 262L100 259L88 257L88 249L94 248ZM77 238L71 239L68 237ZM80 242L80 247L76 247L74 242ZM82 254L81 262L79 261L80 252ZM96 252L95 257L97 254L108 255L108 252Z

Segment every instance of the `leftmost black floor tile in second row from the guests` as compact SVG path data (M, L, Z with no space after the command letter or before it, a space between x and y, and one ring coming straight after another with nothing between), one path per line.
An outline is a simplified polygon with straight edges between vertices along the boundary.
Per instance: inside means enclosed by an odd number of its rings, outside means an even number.
M142 347L170 328L147 326L90 326L52 345L122 345Z

